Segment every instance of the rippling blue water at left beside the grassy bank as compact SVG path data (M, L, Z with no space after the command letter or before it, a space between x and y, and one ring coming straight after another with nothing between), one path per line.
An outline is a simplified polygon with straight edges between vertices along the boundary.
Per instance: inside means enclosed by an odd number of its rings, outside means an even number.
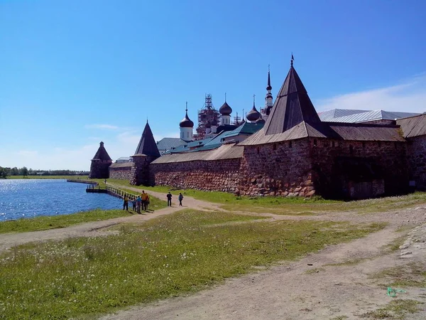
M121 207L119 198L86 193L86 186L66 180L0 179L0 221Z

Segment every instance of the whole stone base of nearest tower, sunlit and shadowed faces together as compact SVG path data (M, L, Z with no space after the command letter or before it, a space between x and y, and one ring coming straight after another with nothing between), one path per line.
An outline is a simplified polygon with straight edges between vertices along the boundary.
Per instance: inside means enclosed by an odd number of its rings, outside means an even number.
M246 196L370 198L408 191L405 142L298 139L246 146L239 192Z

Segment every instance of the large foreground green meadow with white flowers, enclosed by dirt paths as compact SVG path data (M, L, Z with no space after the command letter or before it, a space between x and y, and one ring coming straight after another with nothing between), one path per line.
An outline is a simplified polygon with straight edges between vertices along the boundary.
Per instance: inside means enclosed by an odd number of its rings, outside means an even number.
M256 266L293 260L381 228L251 222L257 219L183 210L124 226L116 235L15 247L0 255L0 319L96 316L196 292Z

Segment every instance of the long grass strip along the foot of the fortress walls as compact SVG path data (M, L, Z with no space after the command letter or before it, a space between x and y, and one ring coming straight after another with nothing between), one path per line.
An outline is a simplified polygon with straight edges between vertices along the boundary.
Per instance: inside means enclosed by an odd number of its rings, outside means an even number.
M104 185L103 179L97 179ZM107 183L116 186L131 186L127 180L107 179ZM174 189L170 186L132 186L146 191L171 193L177 196L180 192L184 196L191 196L204 201L221 203L225 210L249 211L253 213L276 213L285 215L313 215L320 212L357 211L359 213L381 212L386 210L398 210L426 203L426 193L416 192L406 196L394 196L386 198L367 199L361 201L333 201L320 197L237 197L232 193L219 191L199 191L195 189Z

